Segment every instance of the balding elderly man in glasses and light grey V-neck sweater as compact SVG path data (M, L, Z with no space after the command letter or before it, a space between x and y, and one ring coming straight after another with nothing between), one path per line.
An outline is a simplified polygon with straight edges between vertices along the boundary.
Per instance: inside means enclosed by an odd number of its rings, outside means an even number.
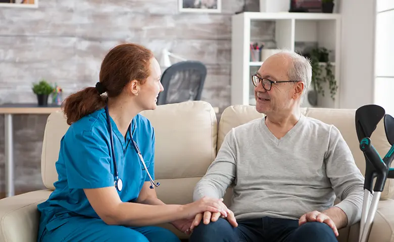
M300 110L311 77L308 59L287 51L252 76L266 115L233 128L196 185L194 200L222 198L230 185L233 197L227 217L195 217L191 242L337 241L338 229L360 220L364 177L348 145Z

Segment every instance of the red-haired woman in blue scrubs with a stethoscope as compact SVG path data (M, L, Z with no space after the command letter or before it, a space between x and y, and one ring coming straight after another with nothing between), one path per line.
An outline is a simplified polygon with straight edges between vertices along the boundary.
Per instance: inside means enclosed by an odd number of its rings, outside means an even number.
M156 196L155 131L139 112L155 109L161 71L153 53L121 44L105 56L100 82L70 95L55 191L38 205L38 241L179 241L196 214L227 215L219 199L166 205ZM162 186L166 186L163 184Z

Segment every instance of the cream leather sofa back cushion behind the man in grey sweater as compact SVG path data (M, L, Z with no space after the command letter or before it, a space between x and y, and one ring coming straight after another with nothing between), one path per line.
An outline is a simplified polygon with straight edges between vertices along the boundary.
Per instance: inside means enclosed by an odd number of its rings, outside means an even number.
M356 134L355 112L356 109L328 109L328 108L302 108L305 116L313 117L324 123L332 124L343 136L343 139L350 147L356 165L360 171L365 172L365 158L360 150L359 141ZM253 119L264 117L256 111L254 106L234 105L227 107L220 119L218 128L218 150L223 143L225 135L231 128L247 123ZM383 119L371 136L371 141L375 149L383 157L390 149L390 144L384 132ZM394 190L394 182L387 179L381 199L391 198Z

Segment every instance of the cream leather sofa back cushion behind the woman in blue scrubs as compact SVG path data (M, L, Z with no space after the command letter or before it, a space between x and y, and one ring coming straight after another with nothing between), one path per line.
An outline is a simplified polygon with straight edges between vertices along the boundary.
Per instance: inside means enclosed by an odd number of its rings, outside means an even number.
M217 119L205 101L159 105L141 112L156 134L155 176L157 179L201 177L216 155ZM60 140L68 125L63 112L47 118L41 154L41 176L46 188L55 189L58 180L55 163ZM163 185L165 186L165 185Z

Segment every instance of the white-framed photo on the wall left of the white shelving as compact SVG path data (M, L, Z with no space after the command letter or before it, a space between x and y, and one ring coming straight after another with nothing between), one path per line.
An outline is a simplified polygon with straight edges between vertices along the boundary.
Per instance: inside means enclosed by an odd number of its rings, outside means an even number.
M220 13L222 0L178 0L179 12Z

